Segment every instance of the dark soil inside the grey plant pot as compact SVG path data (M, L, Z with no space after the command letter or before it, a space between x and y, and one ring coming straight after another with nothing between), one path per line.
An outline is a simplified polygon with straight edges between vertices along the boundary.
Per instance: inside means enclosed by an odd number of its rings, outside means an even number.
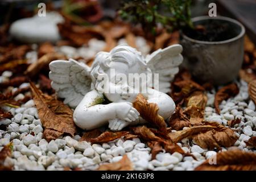
M187 28L183 32L189 38L207 42L224 41L237 36L233 26L216 20L208 20L207 23L195 25L195 29Z

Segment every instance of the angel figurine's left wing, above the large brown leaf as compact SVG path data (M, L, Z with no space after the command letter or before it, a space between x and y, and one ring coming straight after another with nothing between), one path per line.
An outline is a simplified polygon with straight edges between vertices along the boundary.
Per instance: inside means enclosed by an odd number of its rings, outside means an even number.
M84 63L69 59L55 60L49 64L49 78L57 96L65 98L64 104L75 108L90 91L92 79L90 67Z

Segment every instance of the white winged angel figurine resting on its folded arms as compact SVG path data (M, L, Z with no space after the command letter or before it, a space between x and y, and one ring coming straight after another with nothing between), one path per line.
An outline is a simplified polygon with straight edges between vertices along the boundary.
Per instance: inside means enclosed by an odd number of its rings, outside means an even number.
M182 47L176 44L144 58L135 48L122 44L110 52L99 52L92 67L72 59L52 61L49 78L57 96L75 109L73 120L78 127L92 130L109 124L110 130L118 131L146 122L132 104L138 93L157 104L158 114L164 119L174 113L175 103L166 93L183 61L181 51ZM150 73L158 73L155 85L152 79L143 82L141 74ZM133 79L125 79L130 75L134 75ZM159 90L155 89L156 84ZM142 92L144 88L147 89Z

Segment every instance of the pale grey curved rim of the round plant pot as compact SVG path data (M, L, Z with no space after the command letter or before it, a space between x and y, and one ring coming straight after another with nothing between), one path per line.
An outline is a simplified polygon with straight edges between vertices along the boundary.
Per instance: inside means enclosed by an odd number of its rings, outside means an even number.
M191 41L193 43L213 45L213 44L230 43L230 42L233 42L235 40L238 40L238 39L242 38L243 35L245 35L245 27L242 25L242 23L238 22L235 19L228 18L226 16L217 16L217 17L197 16L195 18L192 18L192 22L197 22L197 21L200 21L200 20L208 20L208 19L225 20L226 22L232 22L232 23L237 24L238 26L241 27L241 32L240 32L240 34L238 34L237 36L235 36L232 39L222 40L222 41L217 41L217 42L208 42L208 41L201 41L201 40L192 39L192 38L189 38L187 35L185 35L184 32L183 32L183 38L187 39L187 40L189 40L189 41Z

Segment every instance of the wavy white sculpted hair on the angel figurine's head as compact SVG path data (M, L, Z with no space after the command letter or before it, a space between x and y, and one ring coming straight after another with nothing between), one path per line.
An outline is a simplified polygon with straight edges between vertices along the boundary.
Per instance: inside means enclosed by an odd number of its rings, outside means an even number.
M103 91L101 84L102 80L98 80L97 78L105 75L105 71L110 68L110 63L112 61L126 63L129 65L129 68L134 64L139 63L142 71L144 70L146 72L147 70L146 61L141 55L141 52L127 44L121 44L114 47L110 52L101 51L97 53L92 64L92 71L90 72L92 89L96 89L99 92Z

